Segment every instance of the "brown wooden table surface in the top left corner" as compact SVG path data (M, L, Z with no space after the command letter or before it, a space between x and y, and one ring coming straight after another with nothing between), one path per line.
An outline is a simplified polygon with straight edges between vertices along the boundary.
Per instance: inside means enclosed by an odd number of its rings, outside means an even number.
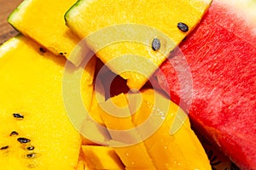
M18 33L8 24L7 18L21 2L22 0L0 0L0 44Z

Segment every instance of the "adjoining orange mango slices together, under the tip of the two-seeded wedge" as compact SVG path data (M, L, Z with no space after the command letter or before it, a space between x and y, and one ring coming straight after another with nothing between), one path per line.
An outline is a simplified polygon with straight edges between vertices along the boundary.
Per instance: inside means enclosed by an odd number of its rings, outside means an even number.
M153 89L119 94L100 103L96 111L112 138L106 144L125 169L211 169L189 119L177 133L170 133L175 116L185 113Z

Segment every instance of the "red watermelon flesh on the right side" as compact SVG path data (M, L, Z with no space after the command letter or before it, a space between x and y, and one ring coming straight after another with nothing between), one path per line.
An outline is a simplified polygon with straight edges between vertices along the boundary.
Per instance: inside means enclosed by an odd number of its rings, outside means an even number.
M173 101L187 104L183 107L195 127L241 169L256 169L255 28L236 10L213 2L201 24L153 76ZM192 77L191 105L189 88L179 83L188 78L178 64L182 56Z

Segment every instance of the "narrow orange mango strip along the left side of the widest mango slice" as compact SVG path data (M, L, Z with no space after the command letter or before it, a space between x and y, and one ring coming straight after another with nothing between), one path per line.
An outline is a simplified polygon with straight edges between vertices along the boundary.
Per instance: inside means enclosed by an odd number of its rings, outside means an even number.
M112 111L112 108L108 110L108 105L111 105L111 102L113 102L113 105L123 109L122 111L119 111L118 115L116 116L108 114L108 111ZM125 169L155 169L143 143L126 147L120 145L134 142L137 143L137 141L140 139L138 133L135 130L126 133L116 133L115 131L110 130L112 129L121 131L134 127L131 121L129 108L127 106L128 104L125 98L125 94L119 94L118 96L108 99L105 103L100 103L98 109L95 110L95 112L102 116L102 120L105 126L108 127L110 136L112 137L112 141L110 141L109 144L113 146L119 146L114 147L114 150L116 151L120 160L124 163Z

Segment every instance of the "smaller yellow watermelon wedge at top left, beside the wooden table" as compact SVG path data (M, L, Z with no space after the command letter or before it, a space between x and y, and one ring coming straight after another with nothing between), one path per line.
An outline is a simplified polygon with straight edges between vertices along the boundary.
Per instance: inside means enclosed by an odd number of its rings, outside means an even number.
M73 48L79 43L65 25L64 14L76 0L25 0L9 15L9 24L22 34L39 42L56 55L69 58ZM44 50L42 48L42 50ZM79 65L81 58L71 61Z

